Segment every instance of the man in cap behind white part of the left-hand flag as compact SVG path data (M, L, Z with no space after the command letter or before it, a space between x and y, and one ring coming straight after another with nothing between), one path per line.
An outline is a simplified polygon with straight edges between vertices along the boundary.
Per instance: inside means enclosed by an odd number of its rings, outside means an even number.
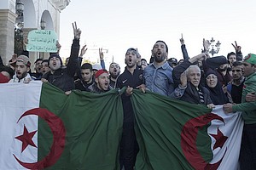
M15 62L15 75L9 82L24 82L32 81L32 77L28 73L30 70L30 61L26 55L20 55Z

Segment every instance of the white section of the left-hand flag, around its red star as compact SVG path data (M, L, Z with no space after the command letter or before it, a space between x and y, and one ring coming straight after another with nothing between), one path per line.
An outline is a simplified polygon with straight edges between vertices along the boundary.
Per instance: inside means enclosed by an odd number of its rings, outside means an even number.
M28 133L38 130L38 116L18 120L25 111L39 107L41 88L41 81L0 84L0 169L25 169L15 156L24 162L38 161L38 149L28 145L21 153L22 142L15 137L23 134L24 126ZM32 141L38 146L38 133Z

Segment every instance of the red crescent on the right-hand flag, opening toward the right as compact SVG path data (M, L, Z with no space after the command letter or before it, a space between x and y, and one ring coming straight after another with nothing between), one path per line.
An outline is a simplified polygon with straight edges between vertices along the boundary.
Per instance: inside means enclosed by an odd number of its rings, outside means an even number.
M190 165L195 169L217 169L224 157L223 156L220 161L214 164L210 164L203 159L200 152L196 148L196 136L198 133L198 129L206 126L214 119L224 122L221 116L213 113L208 113L206 115L190 119L183 126L183 131L181 134L181 147L184 156L187 158Z

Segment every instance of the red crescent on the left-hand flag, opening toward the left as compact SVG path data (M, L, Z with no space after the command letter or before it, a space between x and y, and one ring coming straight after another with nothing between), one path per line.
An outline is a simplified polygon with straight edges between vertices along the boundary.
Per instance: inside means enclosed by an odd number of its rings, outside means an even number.
M65 136L66 130L63 122L54 113L48 111L47 109L35 108L26 111L20 119L28 115L37 115L44 119L49 125L51 132L53 133L53 144L51 145L49 154L44 157L41 161L34 163L27 163L20 161L15 155L15 159L19 161L20 165L28 169L44 169L45 167L50 167L55 164L55 162L61 157L61 154L65 146ZM18 120L18 122L20 121Z

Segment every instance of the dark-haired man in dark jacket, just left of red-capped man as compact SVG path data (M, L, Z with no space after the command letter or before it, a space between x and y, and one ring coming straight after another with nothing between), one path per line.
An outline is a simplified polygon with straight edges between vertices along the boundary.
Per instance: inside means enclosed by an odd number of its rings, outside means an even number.
M90 92L89 87L94 82L92 65L90 65L90 63L84 63L81 66L80 74L81 74L81 78L75 82L76 89L79 89L81 91Z

